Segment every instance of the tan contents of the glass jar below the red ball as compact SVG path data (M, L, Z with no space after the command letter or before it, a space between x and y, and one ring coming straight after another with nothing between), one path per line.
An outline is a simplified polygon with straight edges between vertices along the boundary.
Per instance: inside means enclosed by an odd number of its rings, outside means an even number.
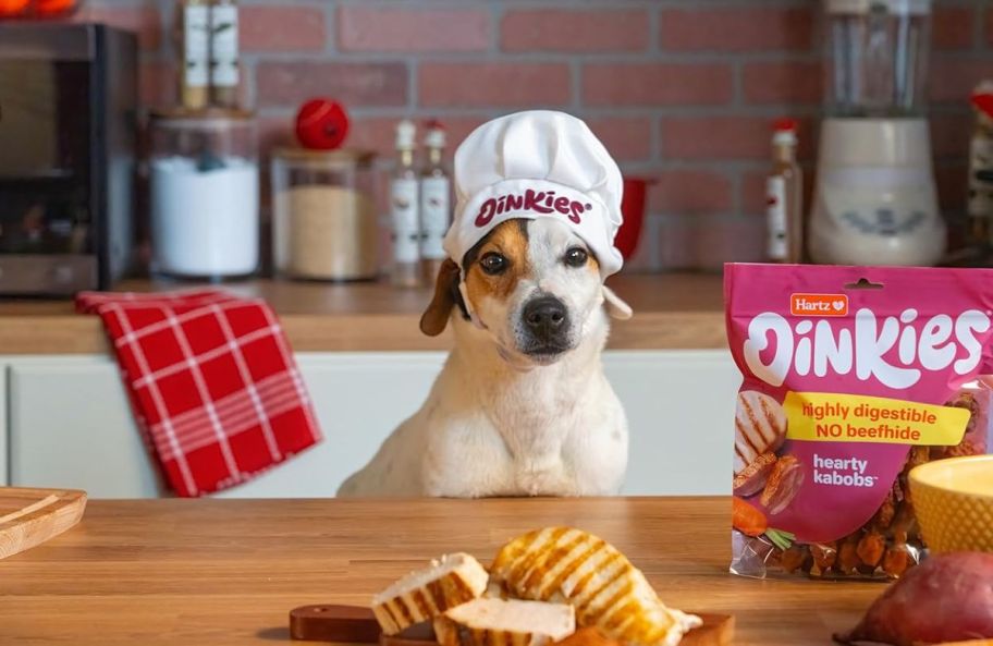
M345 186L299 185L275 196L275 266L319 280L360 280L379 272L376 205Z

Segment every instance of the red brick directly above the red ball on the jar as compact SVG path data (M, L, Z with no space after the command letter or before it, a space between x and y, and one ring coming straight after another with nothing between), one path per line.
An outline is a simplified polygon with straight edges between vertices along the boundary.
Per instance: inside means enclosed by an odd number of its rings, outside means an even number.
M345 106L403 106L407 68L403 63L263 61L256 69L259 105L296 107L328 96Z

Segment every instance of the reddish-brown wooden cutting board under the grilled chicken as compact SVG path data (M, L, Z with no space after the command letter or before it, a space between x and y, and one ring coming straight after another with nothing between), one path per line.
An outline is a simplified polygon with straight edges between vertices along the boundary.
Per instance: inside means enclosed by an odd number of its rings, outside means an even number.
M703 620L703 625L692 630L679 642L681 646L727 646L734 638L734 617L709 612L692 612ZM425 646L437 644L430 632L412 626L400 637L404 644L419 642ZM333 604L301 606L290 611L290 635L294 639L316 642L351 642L399 646L397 639L379 634L379 624L372 611L356 606Z

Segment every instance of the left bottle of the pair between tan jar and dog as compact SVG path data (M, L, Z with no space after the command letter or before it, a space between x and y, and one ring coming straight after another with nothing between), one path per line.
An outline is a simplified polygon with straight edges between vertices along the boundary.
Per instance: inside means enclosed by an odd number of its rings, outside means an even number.
M390 180L390 223L393 229L394 285L420 285L420 219L418 182L414 168L417 127L407 119L396 125L396 169Z

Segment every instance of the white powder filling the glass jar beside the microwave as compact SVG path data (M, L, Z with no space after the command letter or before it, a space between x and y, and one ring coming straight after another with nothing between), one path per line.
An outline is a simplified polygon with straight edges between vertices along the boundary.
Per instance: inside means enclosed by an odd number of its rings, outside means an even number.
M155 269L175 276L244 276L258 266L255 161L224 157L200 170L187 157L151 162Z

